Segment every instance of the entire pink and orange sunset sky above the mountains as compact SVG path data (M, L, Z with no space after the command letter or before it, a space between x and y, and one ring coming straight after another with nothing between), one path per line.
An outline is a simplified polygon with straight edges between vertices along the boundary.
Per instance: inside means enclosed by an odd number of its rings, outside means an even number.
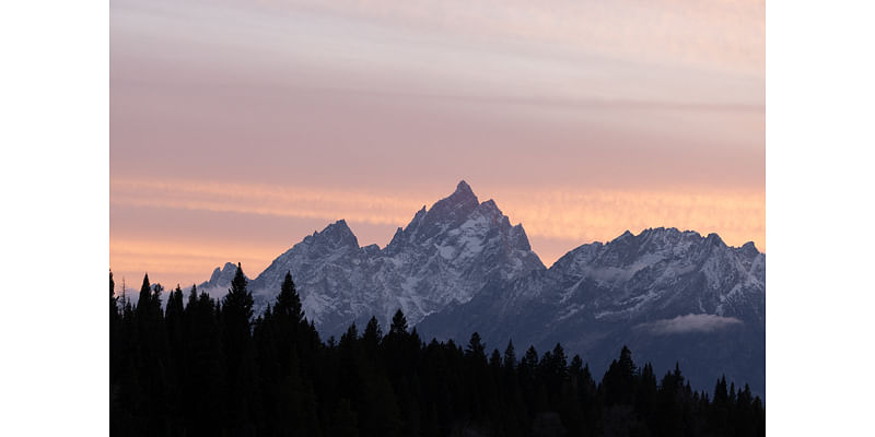
M765 250L762 1L110 3L110 267L255 275L466 179L546 264L626 229Z

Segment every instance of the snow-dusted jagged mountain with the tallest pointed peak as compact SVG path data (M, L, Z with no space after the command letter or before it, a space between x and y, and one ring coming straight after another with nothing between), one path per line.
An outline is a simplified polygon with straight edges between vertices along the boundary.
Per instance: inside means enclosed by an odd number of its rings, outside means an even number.
M545 267L523 227L512 226L494 201L480 203L460 181L453 194L398 228L385 248L360 247L341 220L275 259L249 290L256 311L264 310L290 271L306 317L324 334L338 334L371 316L388 326L399 308L415 324L451 303L470 300L487 282L537 270ZM224 279L224 270L213 277ZM228 283L231 277L233 271Z

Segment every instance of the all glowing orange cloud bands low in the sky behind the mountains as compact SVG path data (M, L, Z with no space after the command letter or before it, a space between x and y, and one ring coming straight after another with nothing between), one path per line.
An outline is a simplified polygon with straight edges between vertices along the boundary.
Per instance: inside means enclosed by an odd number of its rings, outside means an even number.
M752 240L765 250L765 193L757 190L651 189L586 190L537 188L532 190L474 187L480 201L493 198L512 223L522 223L533 249L550 265L565 251L591 241L605 241L630 229L674 226L708 234L715 232L733 246ZM336 190L282 187L264 184L206 181L150 182L113 180L110 206L165 211L235 213L250 216L312 218L327 225L346 218L353 229L363 224L385 232L360 233L360 244L385 246L397 226L406 225L428 200L429 205L447 192L392 193L368 190ZM357 224L359 224L357 226ZM233 224L232 224L233 225ZM246 226L237 222L237 226ZM319 227L320 228L320 227ZM158 280L202 281L212 268L225 261L241 261L250 275L260 272L291 244L244 241L229 236L191 239L176 235L149 239L114 235L110 262L114 270L139 276L154 272ZM174 239L178 238L178 239ZM385 240L382 240L386 238ZM296 240L292 241L296 243Z

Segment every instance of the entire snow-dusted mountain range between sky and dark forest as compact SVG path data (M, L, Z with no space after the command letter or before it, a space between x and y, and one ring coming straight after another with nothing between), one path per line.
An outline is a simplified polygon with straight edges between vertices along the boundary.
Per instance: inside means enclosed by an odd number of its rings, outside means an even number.
M226 292L236 265L198 285ZM323 335L375 316L387 327L401 309L424 340L517 353L561 343L593 371L628 345L657 373L679 364L697 389L722 375L765 397L766 255L716 234L650 228L582 245L547 269L521 224L464 180L423 206L388 245L361 247L343 220L294 245L249 282L262 311L291 272L306 317Z

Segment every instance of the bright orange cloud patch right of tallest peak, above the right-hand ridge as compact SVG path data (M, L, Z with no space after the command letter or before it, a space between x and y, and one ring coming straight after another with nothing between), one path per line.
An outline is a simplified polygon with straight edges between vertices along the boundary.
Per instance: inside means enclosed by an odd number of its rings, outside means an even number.
M533 236L608 240L623 231L678 227L719 233L731 245L766 244L766 194L732 190L542 190L497 199Z

